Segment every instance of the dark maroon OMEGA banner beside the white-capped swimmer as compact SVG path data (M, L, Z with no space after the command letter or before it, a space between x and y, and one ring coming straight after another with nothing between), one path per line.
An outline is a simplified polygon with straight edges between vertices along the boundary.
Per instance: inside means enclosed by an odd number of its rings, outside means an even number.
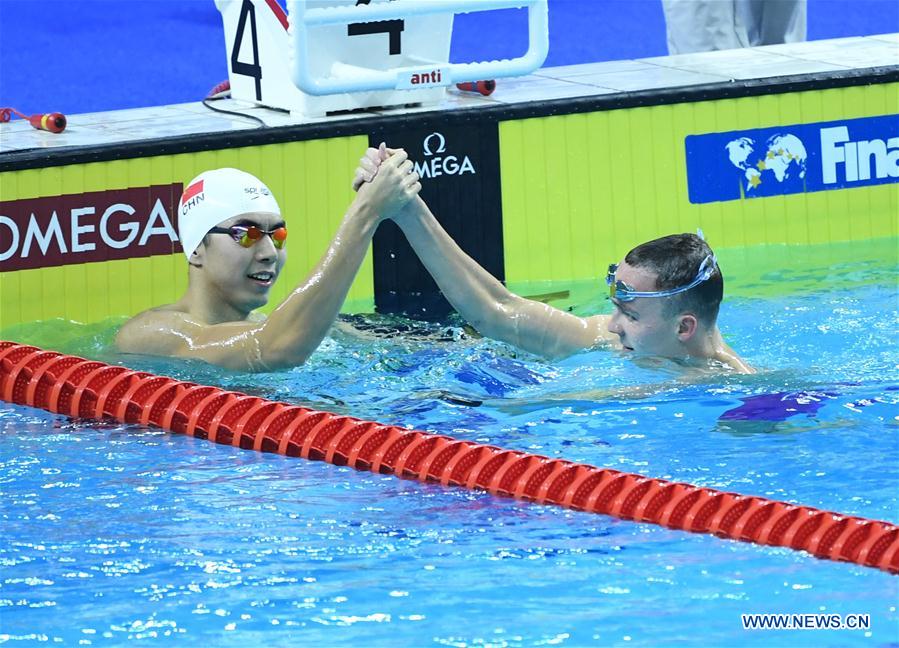
M0 202L0 272L181 250L181 183Z

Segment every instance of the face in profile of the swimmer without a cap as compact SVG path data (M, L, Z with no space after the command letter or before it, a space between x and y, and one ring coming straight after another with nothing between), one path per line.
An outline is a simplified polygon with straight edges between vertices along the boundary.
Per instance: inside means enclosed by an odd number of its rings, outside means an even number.
M624 261L618 266L615 278L634 290L657 290L656 275L645 268L636 268ZM665 314L667 297L638 297L622 302L612 298L615 311L609 319L609 332L618 336L626 352L640 355L682 358L687 354L681 331L681 316Z

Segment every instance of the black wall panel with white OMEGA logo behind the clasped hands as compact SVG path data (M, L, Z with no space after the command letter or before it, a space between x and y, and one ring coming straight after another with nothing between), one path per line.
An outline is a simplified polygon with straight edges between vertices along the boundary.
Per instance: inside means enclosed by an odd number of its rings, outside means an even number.
M421 197L451 237L490 274L503 281L502 196L496 123L433 124L385 129L370 145L403 148L421 176ZM405 236L385 222L374 238L375 308L440 319L450 306Z

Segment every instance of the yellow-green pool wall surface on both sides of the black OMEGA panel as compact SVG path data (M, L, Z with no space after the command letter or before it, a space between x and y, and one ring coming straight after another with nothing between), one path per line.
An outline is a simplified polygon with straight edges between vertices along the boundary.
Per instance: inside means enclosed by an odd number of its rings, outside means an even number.
M896 114L899 84L880 83L500 119L505 279L522 289L588 280L636 243L697 228L716 249L896 241L897 183L692 204L684 154L695 133ZM326 249L368 143L356 134L4 171L0 200L186 183L209 168L239 167L264 178L291 228L275 305ZM372 273L369 254L346 310L372 310ZM180 253L0 272L0 331L130 316L176 300L186 280Z

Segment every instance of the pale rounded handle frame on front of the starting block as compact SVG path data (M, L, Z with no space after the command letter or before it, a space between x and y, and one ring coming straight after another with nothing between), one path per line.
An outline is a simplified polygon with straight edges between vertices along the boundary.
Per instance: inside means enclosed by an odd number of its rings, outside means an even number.
M523 76L533 72L549 53L547 0L396 0L359 6L309 9L307 0L290 0L288 16L293 36L293 81L303 92L320 96L372 90L409 90L409 79L426 75L425 87L450 86L465 81ZM436 13L473 13L494 9L528 9L528 50L523 56L476 63L430 62L390 70L334 65L331 75L314 77L309 69L309 27L395 20ZM419 86L421 87L421 86Z

